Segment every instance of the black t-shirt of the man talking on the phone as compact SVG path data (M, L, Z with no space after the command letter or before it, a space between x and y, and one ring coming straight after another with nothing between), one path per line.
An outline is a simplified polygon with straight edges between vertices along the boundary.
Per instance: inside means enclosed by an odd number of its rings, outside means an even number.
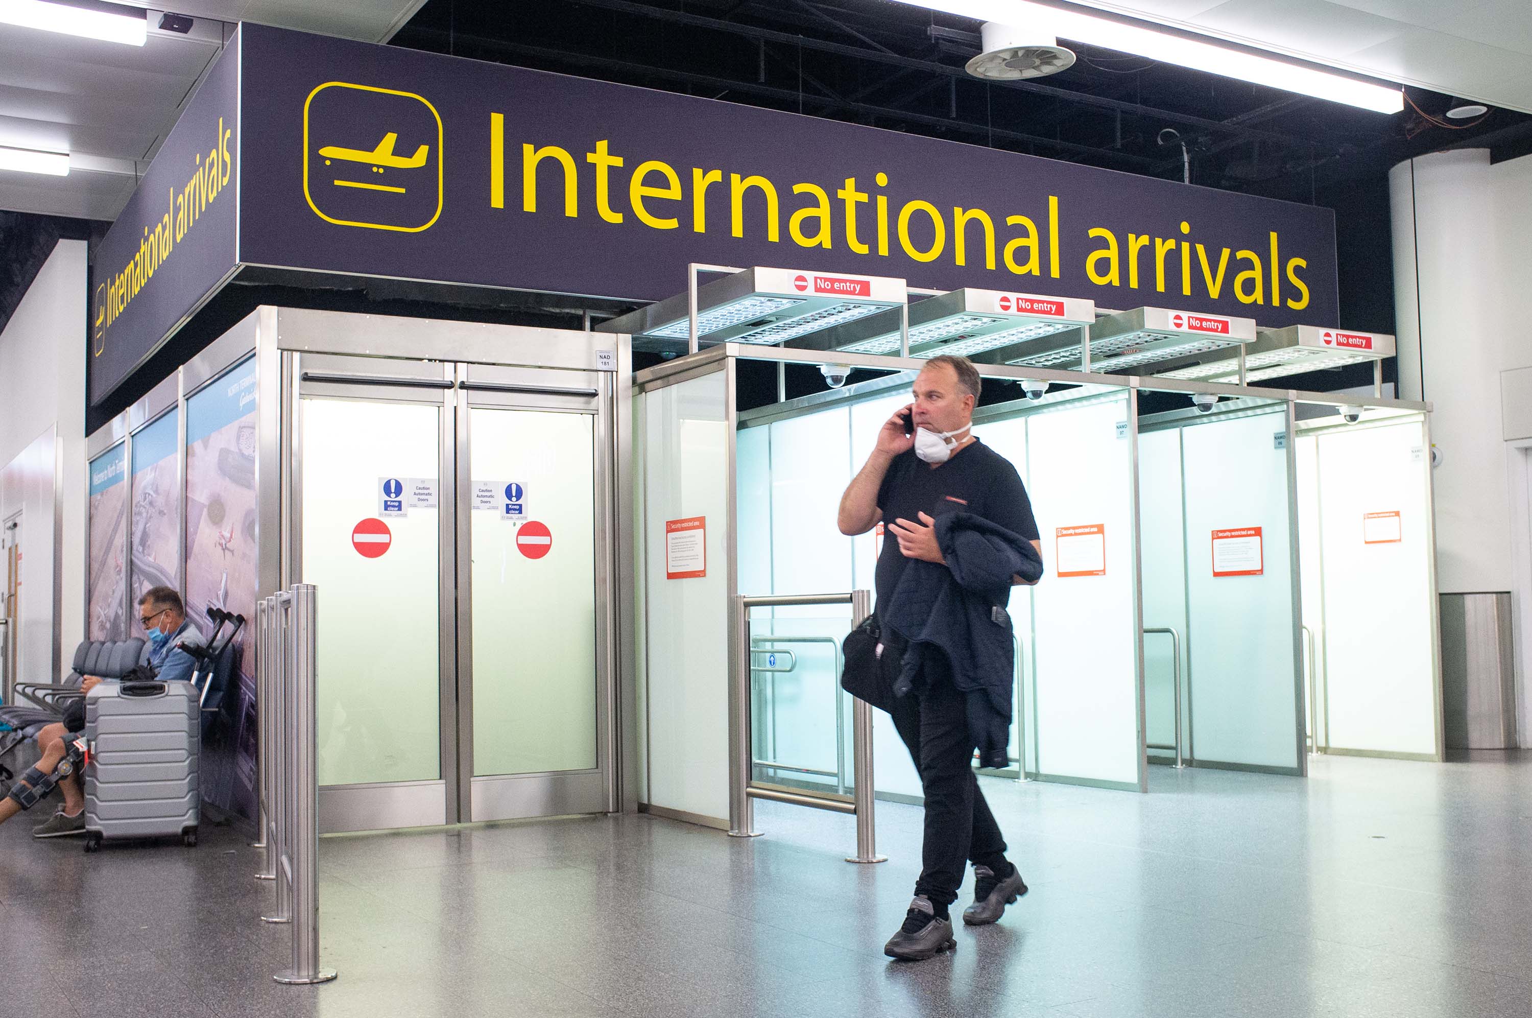
M889 465L878 488L878 509L887 529L895 520L919 523L919 514L933 520L948 512L971 512L1028 541L1039 540L1033 503L1022 477L1003 455L979 438L959 449L941 466L931 466L915 449L901 452ZM908 560L899 552L893 534L884 534L878 555L878 601L899 586Z

